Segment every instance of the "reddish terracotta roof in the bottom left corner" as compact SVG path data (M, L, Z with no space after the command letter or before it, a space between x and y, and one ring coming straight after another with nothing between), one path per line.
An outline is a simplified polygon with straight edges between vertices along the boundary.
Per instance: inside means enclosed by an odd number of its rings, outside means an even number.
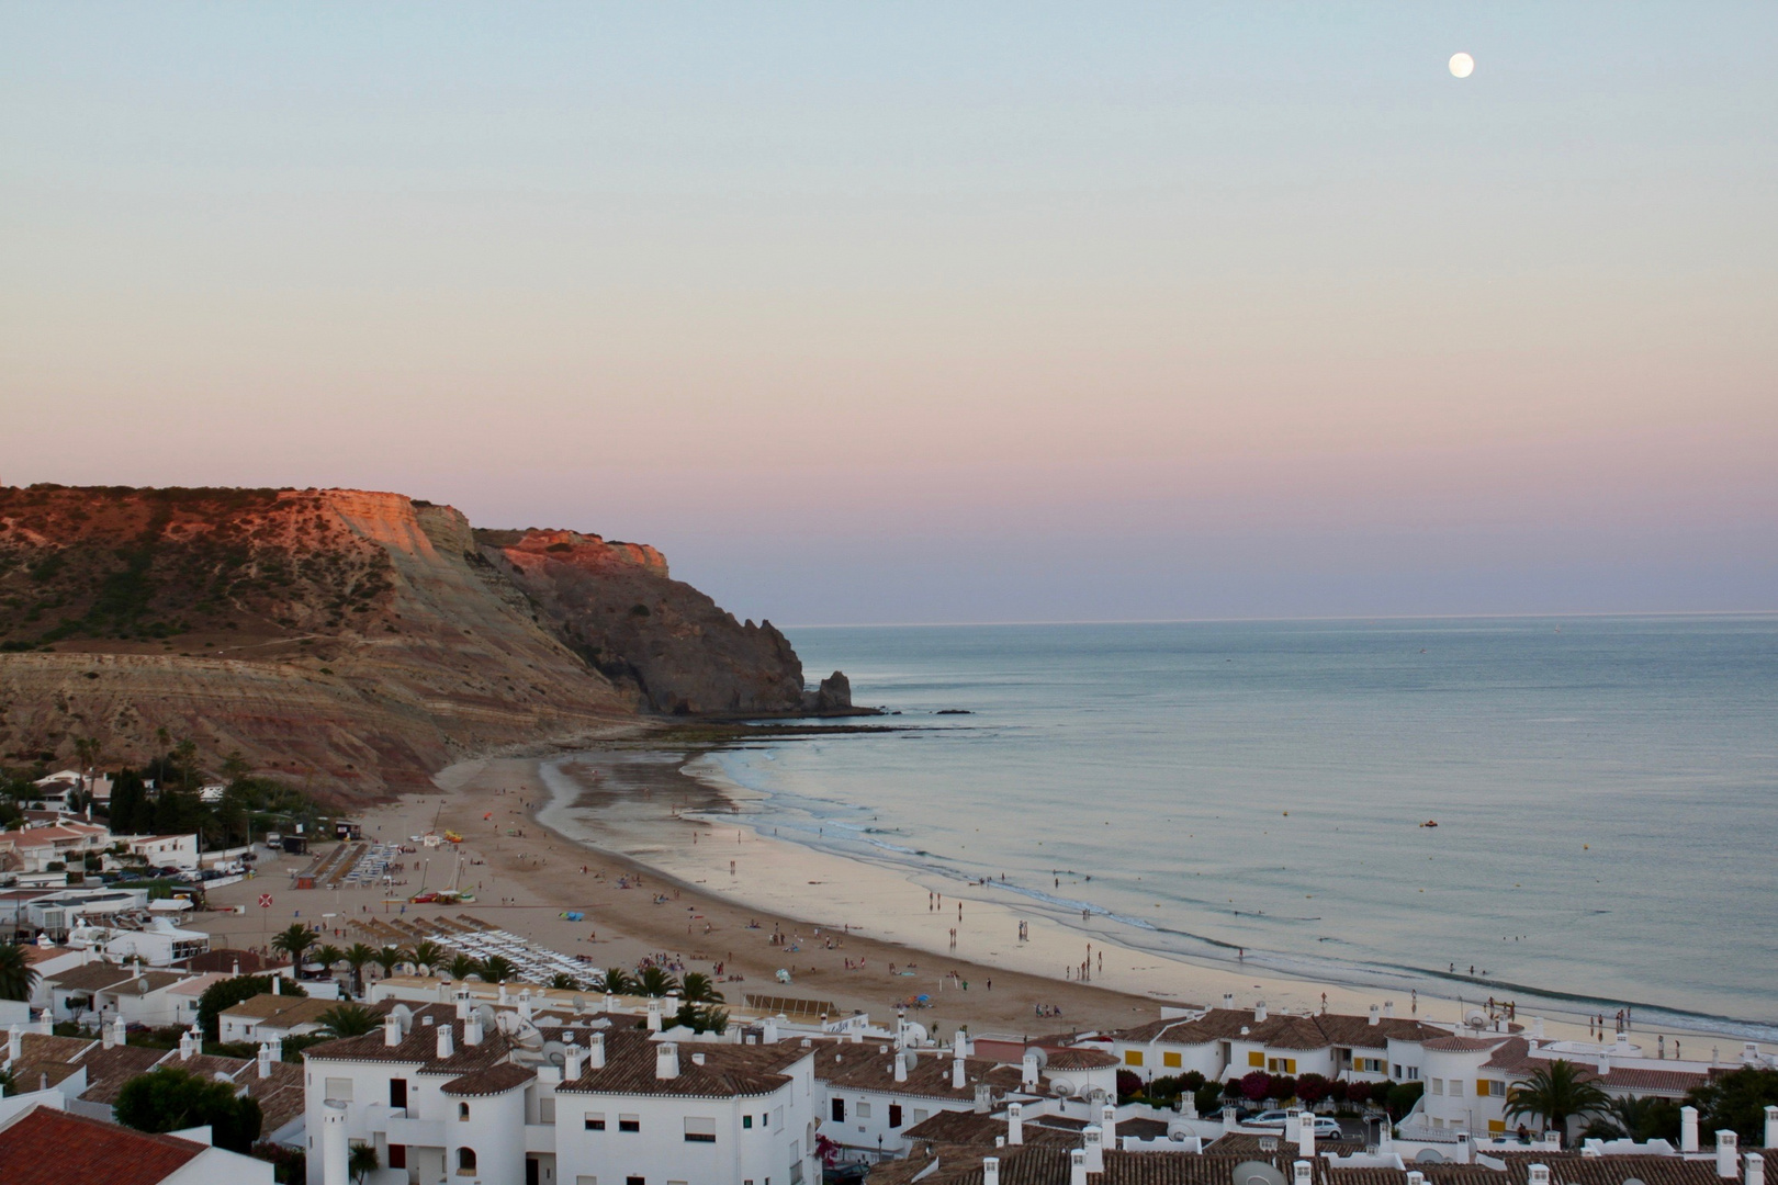
M132 1132L36 1107L0 1130L0 1180L7 1185L156 1185L203 1151L203 1144L174 1135Z

